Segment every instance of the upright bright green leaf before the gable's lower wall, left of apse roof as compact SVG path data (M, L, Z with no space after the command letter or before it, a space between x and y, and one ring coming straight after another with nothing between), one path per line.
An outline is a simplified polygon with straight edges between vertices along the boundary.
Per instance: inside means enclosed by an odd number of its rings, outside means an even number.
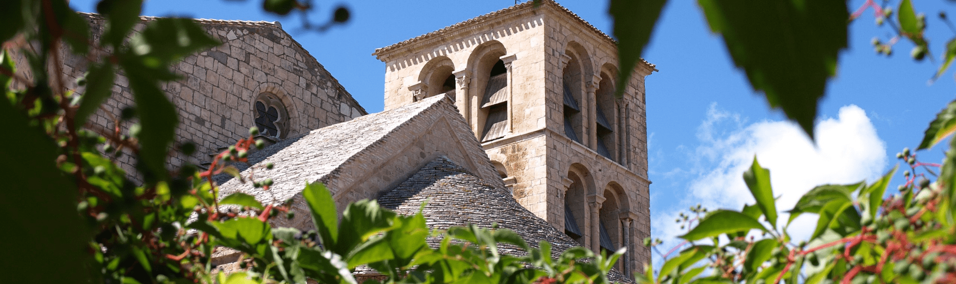
M338 214L336 213L336 202L332 200L332 193L321 183L306 183L305 189L302 189L302 197L305 198L310 211L312 211L312 221L315 224L315 229L318 230L319 237L322 238L322 244L326 248L336 246Z

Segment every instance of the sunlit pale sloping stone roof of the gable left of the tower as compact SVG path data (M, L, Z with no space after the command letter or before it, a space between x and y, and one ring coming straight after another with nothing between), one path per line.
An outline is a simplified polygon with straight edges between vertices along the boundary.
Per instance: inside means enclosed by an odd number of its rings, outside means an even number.
M242 184L227 175L217 176L216 182L222 185L223 196L240 190L262 202L273 201L273 196L274 201L283 202L299 193L306 181L327 184L329 177L336 175L340 167L353 160L359 152L374 147L376 142L382 141L402 124L408 123L443 98L424 98L400 108L315 129L250 154L249 164L273 163L272 170L235 164L243 176L249 176L252 170L256 170L256 177L272 178L273 185L269 191L254 188L250 183ZM335 188L330 190L336 192Z

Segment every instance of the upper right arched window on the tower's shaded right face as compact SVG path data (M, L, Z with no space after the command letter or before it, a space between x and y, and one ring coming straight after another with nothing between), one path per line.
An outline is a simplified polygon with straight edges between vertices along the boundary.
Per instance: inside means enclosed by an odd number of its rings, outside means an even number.
M615 140L615 121L617 117L617 107L614 99L614 79L607 73L601 72L600 84L595 96L596 118L595 127L597 128L597 153L607 157L612 161L618 161L617 142Z

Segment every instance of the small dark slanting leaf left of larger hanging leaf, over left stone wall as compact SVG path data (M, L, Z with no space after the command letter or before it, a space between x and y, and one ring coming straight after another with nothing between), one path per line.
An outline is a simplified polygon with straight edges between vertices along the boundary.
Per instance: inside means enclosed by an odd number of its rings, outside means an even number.
M113 95L113 79L116 71L113 70L113 64L105 63L90 67L90 74L86 76L86 91L83 92L83 100L76 109L76 128L83 128L83 124L94 113L99 106Z

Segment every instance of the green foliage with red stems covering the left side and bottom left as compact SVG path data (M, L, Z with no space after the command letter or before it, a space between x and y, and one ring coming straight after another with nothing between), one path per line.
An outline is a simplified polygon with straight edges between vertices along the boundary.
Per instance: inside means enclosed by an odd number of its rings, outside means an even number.
M310 10L309 3L264 2L273 12ZM533 249L510 230L470 226L431 231L421 213L400 216L375 201L348 205L339 220L332 195L321 184L306 184L301 199L292 200L308 204L317 231L273 228L272 218L293 218L292 204L256 200L245 193L223 197L212 181L212 176L229 174L269 190L272 180L244 177L227 164L246 163L250 147L261 147L262 142L253 140L257 129L215 155L201 172L190 164L167 168L178 115L160 86L180 78L170 65L219 43L189 19L143 21L141 6L142 1L99 1L106 29L99 42L93 42L87 20L70 11L64 0L0 4L0 15L9 24L0 28L5 47L19 48L12 52L26 57L25 65L34 71L33 78L17 75L12 56L7 51L0 55L5 95L0 120L15 137L0 147L16 149L0 151L5 162L0 168L12 177L5 178L9 190L0 190L0 212L13 216L5 219L5 233L0 234L0 241L11 245L0 265L0 282L315 279L358 284L353 273L359 266L385 274L385 283L608 282L606 274L623 251L606 256L576 248L552 259L547 243ZM339 8L330 23L348 17L348 11ZM141 32L134 33L139 24ZM84 87L80 95L64 89L64 78L59 77L64 47L89 61L87 75L77 79ZM115 118L114 129L86 124L113 95L116 74L128 79L135 105ZM129 124L131 120L137 123ZM189 155L195 145L186 142L179 149ZM118 155L133 156L141 183L114 163ZM269 170L272 164L260 167ZM427 238L443 241L432 248ZM501 254L499 244L528 254ZM212 266L213 252L227 248L241 255L235 273Z

